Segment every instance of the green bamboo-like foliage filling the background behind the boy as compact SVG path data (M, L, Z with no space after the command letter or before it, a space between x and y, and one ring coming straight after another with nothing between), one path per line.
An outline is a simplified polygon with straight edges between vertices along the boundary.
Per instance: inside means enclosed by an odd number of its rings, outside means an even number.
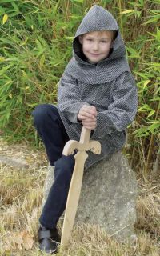
M74 33L94 3L114 14L126 42L139 102L137 118L129 128L129 155L133 166L143 158L141 168L148 168L146 158L154 161L160 130L159 0L2 0L0 130L12 141L26 138L37 142L31 111L39 103L56 103L58 81L71 57Z

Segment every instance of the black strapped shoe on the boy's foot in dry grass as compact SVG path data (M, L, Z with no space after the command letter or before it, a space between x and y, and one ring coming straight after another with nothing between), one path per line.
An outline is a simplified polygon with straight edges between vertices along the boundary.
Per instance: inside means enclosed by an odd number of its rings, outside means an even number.
M56 254L58 245L61 241L58 230L47 229L45 226L40 226L38 230L39 249L46 253Z

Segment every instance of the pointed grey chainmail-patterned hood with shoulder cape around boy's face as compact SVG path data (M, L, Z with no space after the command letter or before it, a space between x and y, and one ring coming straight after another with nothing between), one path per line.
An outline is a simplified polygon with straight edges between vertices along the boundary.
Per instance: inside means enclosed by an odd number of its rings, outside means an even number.
M82 53L82 45L78 36L95 30L114 30L117 31L114 39L113 49L110 50L108 58L98 62L98 65L87 62ZM73 41L73 58L66 66L64 75L72 75L82 82L99 84L110 82L124 71L130 71L126 60L126 49L118 30L118 24L113 15L101 6L90 8L75 34Z

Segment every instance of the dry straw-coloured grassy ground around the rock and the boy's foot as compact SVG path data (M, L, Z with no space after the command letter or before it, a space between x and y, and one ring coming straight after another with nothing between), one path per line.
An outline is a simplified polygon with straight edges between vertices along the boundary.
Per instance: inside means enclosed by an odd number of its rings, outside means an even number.
M44 150L34 150L26 142L8 145L0 139L0 255L42 255L38 250L37 230L47 165ZM118 244L95 226L75 226L69 248L57 255L158 256L159 184L159 178L144 182L138 177L136 244ZM62 222L58 228L62 229Z

